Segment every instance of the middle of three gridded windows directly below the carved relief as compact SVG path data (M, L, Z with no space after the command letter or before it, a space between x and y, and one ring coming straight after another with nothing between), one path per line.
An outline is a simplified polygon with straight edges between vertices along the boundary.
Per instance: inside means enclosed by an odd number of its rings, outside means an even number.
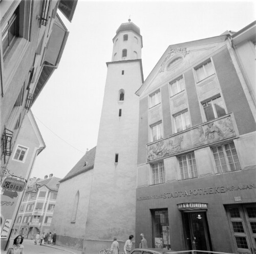
M195 154L190 153L178 157L180 179L188 179L197 177L197 164Z

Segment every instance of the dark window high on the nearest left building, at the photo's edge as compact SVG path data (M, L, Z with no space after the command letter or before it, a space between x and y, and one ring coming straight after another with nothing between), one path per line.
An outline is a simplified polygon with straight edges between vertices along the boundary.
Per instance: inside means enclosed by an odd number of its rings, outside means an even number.
M2 34L2 42L3 42L3 52L4 58L7 55L7 52L13 46L16 38L18 37L18 17L17 10L13 13L6 26L4 27Z

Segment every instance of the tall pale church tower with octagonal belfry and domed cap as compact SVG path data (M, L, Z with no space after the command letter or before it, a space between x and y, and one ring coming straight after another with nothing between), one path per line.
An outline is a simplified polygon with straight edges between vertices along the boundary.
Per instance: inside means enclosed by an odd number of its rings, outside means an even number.
M143 83L142 36L131 20L113 38L112 61L106 63L103 106L94 162L86 234L82 253L120 248L135 235L139 97Z

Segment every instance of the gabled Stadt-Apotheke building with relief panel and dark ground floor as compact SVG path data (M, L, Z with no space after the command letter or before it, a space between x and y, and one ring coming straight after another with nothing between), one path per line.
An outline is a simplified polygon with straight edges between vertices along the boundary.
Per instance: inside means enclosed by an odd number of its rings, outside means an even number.
M254 27L170 45L136 92L136 245L254 253Z

